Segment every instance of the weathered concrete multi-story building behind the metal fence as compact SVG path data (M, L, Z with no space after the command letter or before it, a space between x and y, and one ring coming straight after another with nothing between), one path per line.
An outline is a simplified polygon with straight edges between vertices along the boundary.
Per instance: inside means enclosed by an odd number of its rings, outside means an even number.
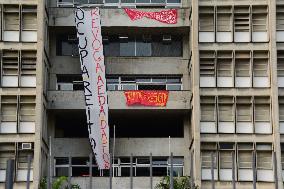
M202 189L283 188L284 2L0 0L1 188L9 158L25 187L28 155L33 188L68 174L89 187L77 5L101 8L114 188L129 188L131 159L134 188L150 188L150 154L156 183L171 152L174 175ZM177 23L126 7L177 9ZM128 106L125 90L168 90L168 103ZM94 162L93 186L108 188Z

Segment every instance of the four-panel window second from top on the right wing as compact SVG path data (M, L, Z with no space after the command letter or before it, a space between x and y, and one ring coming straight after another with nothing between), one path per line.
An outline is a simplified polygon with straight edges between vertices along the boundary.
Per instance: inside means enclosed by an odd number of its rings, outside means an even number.
M199 54L200 87L270 87L268 51L200 51Z

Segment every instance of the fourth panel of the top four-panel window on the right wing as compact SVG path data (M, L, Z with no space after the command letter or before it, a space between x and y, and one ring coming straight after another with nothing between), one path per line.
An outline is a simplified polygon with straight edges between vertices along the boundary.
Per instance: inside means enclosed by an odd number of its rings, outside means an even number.
M267 42L268 41L268 20L267 6L252 7L252 41Z

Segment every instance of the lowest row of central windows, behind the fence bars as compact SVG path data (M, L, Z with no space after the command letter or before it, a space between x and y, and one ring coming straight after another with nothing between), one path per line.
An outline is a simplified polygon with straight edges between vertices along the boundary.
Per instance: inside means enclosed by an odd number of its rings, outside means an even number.
M109 176L108 170L98 170L93 162L93 176L102 177ZM89 175L89 158L88 157L72 157L71 158L71 176L84 177ZM134 177L148 177L150 176L150 157L133 157L133 176ZM68 157L55 158L55 176L68 176L69 159ZM130 157L116 157L113 160L113 176L115 177L129 177L130 176L131 161ZM152 157L152 174L153 176L167 176L170 174L170 159L169 157ZM183 176L184 174L184 158L173 157L173 172L174 176Z

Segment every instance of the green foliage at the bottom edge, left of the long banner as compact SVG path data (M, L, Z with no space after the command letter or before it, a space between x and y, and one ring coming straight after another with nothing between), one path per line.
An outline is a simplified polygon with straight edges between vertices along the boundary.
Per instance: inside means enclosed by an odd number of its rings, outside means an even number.
M58 177L52 183L52 189L68 189L67 186L68 178L65 176ZM42 178L40 181L39 189L47 189L47 180L46 178ZM81 189L78 184L71 184L71 189Z

